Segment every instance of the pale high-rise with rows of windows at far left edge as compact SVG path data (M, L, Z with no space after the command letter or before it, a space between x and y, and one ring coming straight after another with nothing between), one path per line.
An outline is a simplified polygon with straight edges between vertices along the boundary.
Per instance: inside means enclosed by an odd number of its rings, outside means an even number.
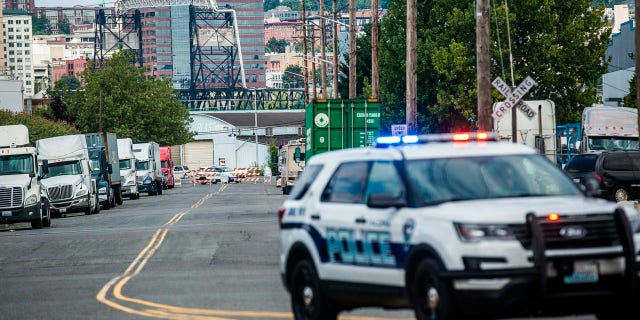
M24 10L4 10L2 21L5 34L5 74L12 79L22 80L25 95L33 95L31 14Z

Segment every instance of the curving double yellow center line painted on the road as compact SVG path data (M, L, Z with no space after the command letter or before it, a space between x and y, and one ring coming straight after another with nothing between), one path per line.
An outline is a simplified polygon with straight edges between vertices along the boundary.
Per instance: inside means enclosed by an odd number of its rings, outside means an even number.
M207 194L203 198L199 199L191 208L198 208L204 204L205 201L213 197L215 194L220 193L226 189L226 184L223 184L218 191L213 194ZM127 297L122 293L124 286L133 279L135 276L142 272L144 266L156 253L156 250L160 248L164 239L169 232L169 227L178 223L189 210L183 210L174 215L169 221L167 221L162 228L156 230L151 237L151 240L147 246L138 253L138 256L131 262L127 269L113 279L109 280L96 294L96 300L104 303L105 305L126 312L133 315L139 315L149 318L157 319L175 319L175 320L233 320L233 318L219 318L222 317L251 317L251 318L279 318L279 319L292 319L293 314L291 312L270 312L270 311L233 311L233 310L217 310L217 309L201 309L201 308L185 308L172 306L144 299ZM109 295L113 296L113 299L109 298ZM127 305L122 304L127 303ZM372 318L372 317L359 317L359 316L342 316L342 320L398 320L397 318Z

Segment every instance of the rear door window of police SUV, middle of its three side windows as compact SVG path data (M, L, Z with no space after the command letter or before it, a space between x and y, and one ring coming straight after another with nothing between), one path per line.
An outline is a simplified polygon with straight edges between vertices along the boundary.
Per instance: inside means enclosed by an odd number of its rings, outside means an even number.
M336 169L322 192L325 202L363 203L368 162L346 162Z

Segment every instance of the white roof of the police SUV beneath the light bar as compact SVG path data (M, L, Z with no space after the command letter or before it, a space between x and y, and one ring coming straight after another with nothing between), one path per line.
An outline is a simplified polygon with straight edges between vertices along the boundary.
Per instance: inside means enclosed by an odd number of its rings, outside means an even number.
M352 148L314 155L307 164L358 159L428 159L450 157L537 154L538 151L523 144L502 141L433 142L402 144L387 148Z

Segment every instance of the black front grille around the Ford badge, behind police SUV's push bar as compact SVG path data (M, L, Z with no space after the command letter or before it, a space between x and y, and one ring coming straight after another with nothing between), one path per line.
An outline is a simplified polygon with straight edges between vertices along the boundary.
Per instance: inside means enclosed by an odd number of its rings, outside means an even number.
M547 249L574 249L610 247L620 245L614 215L600 214L588 216L561 216L559 221L539 221ZM531 249L531 232L526 224L509 225L516 239L526 249ZM582 227L586 234L579 238L566 238L560 235L564 227Z

